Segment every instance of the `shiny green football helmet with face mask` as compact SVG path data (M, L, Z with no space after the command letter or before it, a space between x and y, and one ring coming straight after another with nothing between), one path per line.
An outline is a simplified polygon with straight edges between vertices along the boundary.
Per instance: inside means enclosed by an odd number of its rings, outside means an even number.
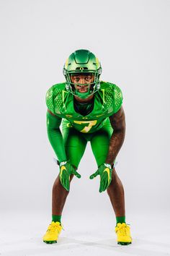
M71 74L94 74L94 82L83 84L88 87L86 93L80 93L76 89L76 85L82 86L80 83L71 82ZM97 57L88 50L77 50L71 54L63 67L63 74L66 77L66 90L79 98L88 98L100 88L99 77L102 73L102 67Z

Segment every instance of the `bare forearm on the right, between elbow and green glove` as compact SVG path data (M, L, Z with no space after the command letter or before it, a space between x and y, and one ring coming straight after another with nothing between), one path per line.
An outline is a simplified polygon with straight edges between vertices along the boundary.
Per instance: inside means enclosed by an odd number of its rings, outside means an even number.
M117 130L112 133L112 137L109 141L109 150L107 153L107 158L105 163L113 164L117 154L122 147L122 144L125 140L125 129Z

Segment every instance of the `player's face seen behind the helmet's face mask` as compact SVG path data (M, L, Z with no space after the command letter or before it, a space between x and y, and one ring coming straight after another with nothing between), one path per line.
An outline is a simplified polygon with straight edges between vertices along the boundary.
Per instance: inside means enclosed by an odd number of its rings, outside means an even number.
M71 75L71 82L75 84L79 93L86 93L88 91L87 84L94 82L94 74L73 74ZM81 85L76 85L77 83Z

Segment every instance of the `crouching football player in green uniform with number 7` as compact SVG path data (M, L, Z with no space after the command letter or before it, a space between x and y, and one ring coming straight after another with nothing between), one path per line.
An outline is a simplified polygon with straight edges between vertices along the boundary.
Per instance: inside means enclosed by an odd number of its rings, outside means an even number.
M53 85L46 95L48 139L60 169L53 184L52 221L43 236L48 244L58 241L63 206L73 176L81 178L77 169L87 142L98 166L89 179L99 175L99 192L109 195L116 216L117 243L132 242L130 226L125 222L124 189L114 166L125 138L122 92L117 85L100 81L101 73L94 54L84 49L75 51L63 67L66 82Z

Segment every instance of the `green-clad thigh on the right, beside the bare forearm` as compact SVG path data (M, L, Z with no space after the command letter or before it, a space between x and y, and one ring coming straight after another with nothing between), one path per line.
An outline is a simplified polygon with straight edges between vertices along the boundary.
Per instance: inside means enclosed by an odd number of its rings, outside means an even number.
M97 161L97 166L100 166L105 162L107 158L107 153L109 150L109 140L112 136L113 129L111 125L107 125L99 129L99 131L94 132L91 138L91 149L94 153L94 157Z

